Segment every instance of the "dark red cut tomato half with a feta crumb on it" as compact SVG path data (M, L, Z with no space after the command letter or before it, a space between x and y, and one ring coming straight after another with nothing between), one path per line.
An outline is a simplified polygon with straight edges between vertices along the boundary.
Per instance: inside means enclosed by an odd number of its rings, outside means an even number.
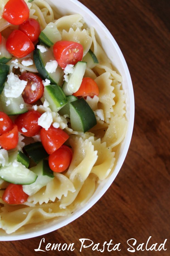
M27 85L22 93L22 97L26 103L34 103L43 96L43 80L38 75L32 73L23 73L19 76L19 79L27 81ZM32 85L33 87L35 86L35 90L32 90Z

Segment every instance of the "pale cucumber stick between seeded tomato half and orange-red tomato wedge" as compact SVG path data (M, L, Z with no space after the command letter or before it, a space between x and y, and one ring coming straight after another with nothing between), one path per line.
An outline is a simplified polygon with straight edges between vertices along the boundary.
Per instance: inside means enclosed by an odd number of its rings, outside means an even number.
M65 81L62 87L65 95L72 95L79 90L86 66L87 63L83 61L78 61L75 64L73 73L68 75L68 82Z

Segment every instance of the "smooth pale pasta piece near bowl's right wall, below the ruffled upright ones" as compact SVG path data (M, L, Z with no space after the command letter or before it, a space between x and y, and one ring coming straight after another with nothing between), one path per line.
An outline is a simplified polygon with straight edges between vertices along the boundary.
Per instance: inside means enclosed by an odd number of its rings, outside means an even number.
M111 123L102 138L102 142L106 141L108 147L115 147L124 139L127 128L128 121L125 117L111 114Z

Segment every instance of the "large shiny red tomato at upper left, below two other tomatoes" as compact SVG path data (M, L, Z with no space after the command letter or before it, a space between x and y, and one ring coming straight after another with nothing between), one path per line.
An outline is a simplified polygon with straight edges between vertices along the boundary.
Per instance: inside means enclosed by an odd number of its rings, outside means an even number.
M31 40L20 30L14 30L6 41L6 49L17 58L22 58L31 53L35 47Z

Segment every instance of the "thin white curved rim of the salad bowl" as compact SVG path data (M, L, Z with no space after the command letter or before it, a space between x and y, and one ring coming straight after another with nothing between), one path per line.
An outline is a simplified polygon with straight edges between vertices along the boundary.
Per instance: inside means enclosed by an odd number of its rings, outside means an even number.
M128 83L129 95L130 95L130 98L129 98L130 116L129 116L129 120L128 120L128 130L127 130L126 136L125 136L125 144L124 144L122 153L119 157L119 161L116 163L116 167L114 169L114 172L109 176L108 181L104 184L102 189L99 191L98 195L94 199L89 201L87 204L85 204L80 210L76 211L75 214L69 216L67 219L64 219L60 223L54 224L52 227L46 227L46 228L44 228L42 230L39 230L39 231L33 231L33 232L29 232L27 234L14 234L14 235L13 234L9 234L9 235L6 234L5 236L0 236L0 241L16 241L16 240L30 239L30 238L34 238L34 237L38 237L38 236L43 236L47 233L50 233L52 231L55 231L59 228L62 228L64 226L68 225L69 223L71 223L72 221L74 221L75 219L77 219L78 217L83 215L104 195L106 190L111 186L111 184L115 180L118 172L120 171L120 169L123 165L126 154L128 153L128 149L129 149L129 146L130 146L132 133L133 133L134 115L135 115L134 91L133 91L133 85L132 85L132 80L131 80L131 76L130 76L128 66L126 64L124 56L123 56L116 40L114 39L111 32L109 32L109 30L106 28L106 26L101 22L101 20L91 10L89 10L84 4L82 4L78 0L70 0L70 2L72 2L73 4L76 4L81 9L84 9L93 19L95 19L95 22L97 22L99 24L99 26L101 26L105 29L105 33L107 34L108 39L113 42L114 47L115 47L115 49L118 53L118 56L121 60L121 63L124 67L125 75L126 75L126 78L127 78L127 81L128 81L127 83Z

